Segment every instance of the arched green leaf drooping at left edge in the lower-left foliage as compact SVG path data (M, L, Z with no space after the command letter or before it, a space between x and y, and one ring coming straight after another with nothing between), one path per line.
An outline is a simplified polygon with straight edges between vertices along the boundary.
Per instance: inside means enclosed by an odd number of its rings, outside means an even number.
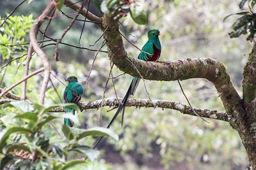
M1 139L0 139L0 148L3 148L6 140L13 133L33 133L33 132L30 131L29 129L26 129L23 127L11 127L10 129L7 129L6 131L3 132L3 136L1 136ZM2 134L2 132L1 132L1 134Z

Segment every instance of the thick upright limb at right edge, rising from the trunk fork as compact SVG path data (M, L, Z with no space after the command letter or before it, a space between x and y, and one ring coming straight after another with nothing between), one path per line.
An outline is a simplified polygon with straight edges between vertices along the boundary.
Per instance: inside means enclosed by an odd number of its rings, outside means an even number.
M256 98L256 44L249 54L248 62L243 73L243 99L246 105L255 103Z

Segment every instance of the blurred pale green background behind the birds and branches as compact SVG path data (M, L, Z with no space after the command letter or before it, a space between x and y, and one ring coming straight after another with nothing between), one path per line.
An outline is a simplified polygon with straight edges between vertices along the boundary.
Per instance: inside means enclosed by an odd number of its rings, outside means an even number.
M10 13L20 2L0 1L1 18L6 17L7 13ZM30 4L24 3L15 11L14 15L28 16L32 13L33 19L36 19L48 2L35 0ZM141 47L147 41L148 29L159 29L161 32L159 39L162 45L160 60L163 61L192 57L211 57L220 60L227 66L232 83L241 95L242 71L252 45L246 41L244 36L236 39L229 38L228 32L231 30L234 17L223 22L224 17L239 10L238 4L239 1L228 0L175 0L173 2L148 0L144 4L148 15L147 25L137 25L131 17L127 16L120 20L125 27L121 27L121 31L132 43ZM100 15L93 5L90 6L90 11ZM62 10L74 17L74 11L66 7L63 7ZM84 19L83 17L79 18ZM52 20L46 35L56 39L60 38L70 21L70 18L58 12L58 17ZM42 26L42 31L46 25ZM83 22L75 22L63 42L80 46L78 40L82 27ZM4 30L0 29L0 33L3 35ZM99 49L103 39L100 39L95 46L90 45L93 45L101 34L97 25L86 22L81 46ZM42 34L39 33L38 39L41 38ZM15 44L17 41L17 39L10 38L5 43ZM28 34L26 34L24 42L28 42ZM4 43L3 36L2 39L0 38L0 43ZM127 52L137 57L140 51L125 39L124 43ZM77 76L85 90L81 101L102 99L110 69L107 54L99 53L97 55L86 87L87 76L96 52L59 45L60 61L55 62L54 48L55 46L44 48L51 60L52 72L63 82L67 76ZM1 88L9 87L24 75L23 61L26 56L3 68L8 60L26 53L26 48L19 49L19 53L15 48L10 49L3 53L4 47L0 46L2 52L0 53L0 77L3 78ZM106 50L106 46L103 50ZM31 61L31 70L41 66L42 63L38 56L34 55ZM122 74L122 71L114 66L113 76L119 74ZM61 103L60 97L62 97L65 86L53 76L51 76L51 80L58 94L49 83L45 103ZM130 81L131 76L128 74L118 76L113 81L109 80L105 97L116 97L113 82L117 96L124 97ZM192 106L224 111L223 104L218 97L219 94L211 82L195 78L181 81L181 83ZM41 84L42 74L29 79L28 97L32 101L37 101ZM145 85L150 99L166 99L186 103L177 81L145 80ZM21 95L20 89L21 85L15 87L12 92ZM141 81L134 98L148 99L149 96ZM101 124L105 126L115 114L115 110L107 112L108 110L109 108L102 108L102 111L83 111L79 115L81 124L77 127L97 126L100 112L102 112ZM8 113L3 113L0 110L0 116L6 114ZM184 115L179 111L162 110L161 108L127 108L124 127L121 127L120 117L111 127L120 135L120 141L116 143L113 140L104 140L100 143L98 148L102 154L97 162L86 166L86 169L245 169L248 160L237 132L227 122L208 119L207 121L210 124L200 118ZM62 123L62 121L55 122L57 127L61 127ZM88 141L88 143L92 143L92 141ZM74 155L74 157L76 156ZM80 168L77 167L77 169ZM76 167L72 169L76 169Z

